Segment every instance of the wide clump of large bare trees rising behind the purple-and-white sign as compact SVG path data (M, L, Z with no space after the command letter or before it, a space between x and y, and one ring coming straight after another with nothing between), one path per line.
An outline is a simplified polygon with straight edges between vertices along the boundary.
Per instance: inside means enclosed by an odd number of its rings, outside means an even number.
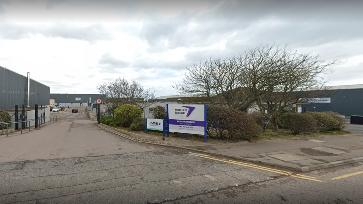
M306 90L317 94L334 64L319 60L310 53L286 51L275 44L258 45L243 54L224 59L208 59L188 67L182 82L173 86L180 94L196 94L205 101L246 111L253 105L277 130L279 115L285 107L307 96ZM311 93L309 93L310 97Z

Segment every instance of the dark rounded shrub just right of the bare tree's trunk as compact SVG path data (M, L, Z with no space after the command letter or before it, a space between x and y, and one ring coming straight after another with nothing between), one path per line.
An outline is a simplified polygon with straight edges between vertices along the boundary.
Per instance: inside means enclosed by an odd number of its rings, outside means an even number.
M298 135L301 132L317 131L317 121L309 114L286 113L284 117L282 117L282 123L284 123L285 128L291 130L294 135Z

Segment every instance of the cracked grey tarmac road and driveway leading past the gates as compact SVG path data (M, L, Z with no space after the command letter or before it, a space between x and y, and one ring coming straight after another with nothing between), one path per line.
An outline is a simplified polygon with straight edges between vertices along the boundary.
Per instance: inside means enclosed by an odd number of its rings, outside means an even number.
M133 142L79 111L0 139L0 203L363 203L363 163L298 174Z

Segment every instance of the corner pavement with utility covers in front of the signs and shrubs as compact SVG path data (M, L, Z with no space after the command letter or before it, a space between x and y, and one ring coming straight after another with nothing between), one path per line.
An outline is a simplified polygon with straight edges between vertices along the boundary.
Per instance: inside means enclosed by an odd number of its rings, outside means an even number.
M347 123L345 130L352 134L227 144L166 137L163 142L171 147L307 172L363 161L363 125ZM143 132L132 133L158 137ZM158 138L162 141L162 137Z

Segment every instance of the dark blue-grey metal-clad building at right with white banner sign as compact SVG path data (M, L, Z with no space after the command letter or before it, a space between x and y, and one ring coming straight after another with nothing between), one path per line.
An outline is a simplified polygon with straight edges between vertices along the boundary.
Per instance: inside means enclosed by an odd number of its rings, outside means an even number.
M341 115L363 115L363 84L330 86L317 100L301 104L302 112L333 111Z

